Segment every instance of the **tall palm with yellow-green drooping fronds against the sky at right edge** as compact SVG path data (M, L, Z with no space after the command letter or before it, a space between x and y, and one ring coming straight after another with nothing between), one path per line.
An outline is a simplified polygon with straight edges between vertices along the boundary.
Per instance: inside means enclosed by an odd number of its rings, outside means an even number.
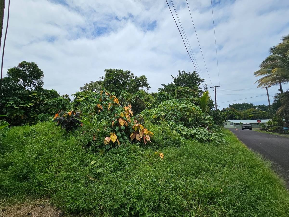
M254 75L263 76L255 83L257 87L280 86L283 93L282 84L289 82L289 35L282 38L282 42L270 49L271 55L268 56L260 65L260 70L255 71ZM254 84L255 84L254 83Z

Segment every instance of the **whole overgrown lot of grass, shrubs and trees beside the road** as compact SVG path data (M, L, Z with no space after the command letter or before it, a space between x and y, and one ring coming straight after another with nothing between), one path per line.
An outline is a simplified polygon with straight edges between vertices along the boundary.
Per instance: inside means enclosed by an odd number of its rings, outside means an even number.
M284 183L218 126L224 115L196 72L179 71L148 93L146 76L107 69L71 102L42 88L34 62L8 71L0 93L0 198L46 196L66 212L95 216L288 213ZM266 113L258 106L246 114L257 115L254 109Z

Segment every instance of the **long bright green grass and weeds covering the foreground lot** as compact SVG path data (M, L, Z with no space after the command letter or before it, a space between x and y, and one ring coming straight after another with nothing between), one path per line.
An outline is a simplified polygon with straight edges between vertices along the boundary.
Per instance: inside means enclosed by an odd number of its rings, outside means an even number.
M84 147L90 137L83 129L13 127L0 145L0 198L47 196L66 212L91 216L289 215L288 190L270 163L229 130L228 143L215 145L149 129L153 144L103 153Z

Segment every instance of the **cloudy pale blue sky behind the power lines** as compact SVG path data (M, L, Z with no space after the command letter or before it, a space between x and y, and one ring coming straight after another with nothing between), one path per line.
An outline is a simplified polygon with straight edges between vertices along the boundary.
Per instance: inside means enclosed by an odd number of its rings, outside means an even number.
M258 96L266 90L253 84L258 79L253 73L269 55L269 48L289 34L289 1L213 0L219 76L211 1L188 0L208 72L186 0L173 3L201 78L209 87L221 85L218 108L241 102L268 105L266 95ZM3 29L8 0L5 4ZM195 70L165 0L11 1L3 71L23 60L36 62L44 72L44 88L61 95L99 80L110 68L145 75L149 92L171 83L171 75L178 70ZM230 91L239 89L248 90ZM268 89L271 103L278 89ZM253 98L244 99L248 97Z

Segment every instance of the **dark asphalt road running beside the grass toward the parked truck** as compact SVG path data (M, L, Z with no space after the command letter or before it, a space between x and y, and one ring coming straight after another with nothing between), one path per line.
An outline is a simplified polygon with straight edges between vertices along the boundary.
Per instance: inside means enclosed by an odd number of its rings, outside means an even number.
M255 130L230 129L251 150L273 162L289 188L289 138L260 133Z

